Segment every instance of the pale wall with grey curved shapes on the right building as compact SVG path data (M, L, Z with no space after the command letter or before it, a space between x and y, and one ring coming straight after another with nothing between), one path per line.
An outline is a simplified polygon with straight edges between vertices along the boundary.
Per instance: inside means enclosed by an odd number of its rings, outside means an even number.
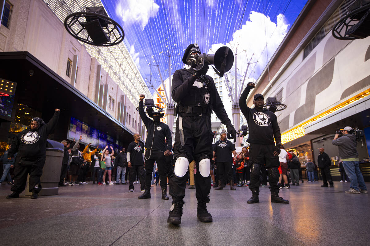
M266 93L282 90L282 132L369 89L369 58L369 38L341 41L331 33L305 59L302 51Z

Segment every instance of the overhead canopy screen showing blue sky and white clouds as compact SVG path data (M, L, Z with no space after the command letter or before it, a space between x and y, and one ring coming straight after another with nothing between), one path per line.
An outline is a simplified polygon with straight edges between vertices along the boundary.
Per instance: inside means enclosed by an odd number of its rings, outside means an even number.
M102 0L122 25L125 45L142 77L155 87L184 66L182 55L197 42L202 52L228 45L238 53L238 71L258 79L307 0ZM267 47L267 48L266 48Z

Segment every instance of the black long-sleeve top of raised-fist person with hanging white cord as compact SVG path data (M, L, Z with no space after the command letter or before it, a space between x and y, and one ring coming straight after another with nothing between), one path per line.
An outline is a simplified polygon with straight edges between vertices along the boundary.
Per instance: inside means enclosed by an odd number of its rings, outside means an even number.
M165 152L172 149L172 136L168 125L163 122L155 124L144 112L144 103L139 101L139 114L147 128L148 135L144 147L155 151ZM165 138L167 143L165 142Z

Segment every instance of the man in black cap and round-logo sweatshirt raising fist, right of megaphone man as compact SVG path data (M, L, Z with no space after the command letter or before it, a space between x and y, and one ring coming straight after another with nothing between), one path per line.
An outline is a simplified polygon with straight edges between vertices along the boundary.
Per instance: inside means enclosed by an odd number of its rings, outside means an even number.
M248 83L239 99L240 111L245 116L249 127L247 142L250 143L249 164L251 168L249 189L252 191L252 198L248 200L248 203L259 202L260 170L266 164L269 174L271 202L288 204L288 200L279 197L279 187L277 186L280 177L278 169L280 166L278 155L281 146L280 128L277 124L276 115L263 107L265 103L261 94L255 94L253 97L254 108L247 106L246 99L249 91L254 87L254 83Z

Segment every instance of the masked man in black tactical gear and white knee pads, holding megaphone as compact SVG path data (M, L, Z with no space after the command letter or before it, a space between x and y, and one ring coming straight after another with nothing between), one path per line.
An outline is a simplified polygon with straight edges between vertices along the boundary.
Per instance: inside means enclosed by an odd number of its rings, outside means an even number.
M178 103L178 118L174 145L175 168L169 180L172 207L168 223L180 224L185 197L186 171L195 160L197 216L202 222L212 222L206 208L211 190L210 166L213 157L211 113L214 111L228 130L228 138L236 138L236 131L223 107L213 79L206 75L208 65L198 62L201 51L194 43L186 48L182 62L187 66L176 70L172 78L172 98Z

